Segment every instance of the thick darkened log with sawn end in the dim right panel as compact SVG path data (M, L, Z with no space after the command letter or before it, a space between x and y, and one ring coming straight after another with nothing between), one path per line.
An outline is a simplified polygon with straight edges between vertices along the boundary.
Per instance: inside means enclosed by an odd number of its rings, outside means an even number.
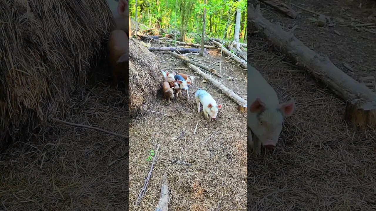
M248 5L248 26L344 99L347 102L343 116L346 121L361 129L367 125L375 127L376 93L341 71L327 56L320 56L306 47L293 35L293 30L286 32L281 26L270 23L262 17L259 7L257 5L255 9Z

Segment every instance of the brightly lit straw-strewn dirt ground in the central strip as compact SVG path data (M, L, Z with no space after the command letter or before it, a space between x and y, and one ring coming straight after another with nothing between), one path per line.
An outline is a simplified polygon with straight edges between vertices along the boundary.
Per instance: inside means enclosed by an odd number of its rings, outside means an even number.
M158 203L161 178L167 173L170 188L171 211L246 210L246 115L237 112L237 105L211 83L166 53L157 53L162 68L172 69L195 77L190 86L190 99L172 98L171 103L160 93L150 110L129 122L129 200L130 210L154 210ZM210 51L205 59L190 59L219 69L219 54ZM223 62L225 58L223 57ZM214 65L213 65L214 63ZM226 63L221 74L227 75L223 84L240 96L247 96L246 71ZM165 69L171 72L171 69ZM220 79L213 75L213 77ZM227 80L232 77L233 80ZM208 123L201 109L197 113L194 100L198 88L209 92L217 103L222 104L217 120ZM196 134L193 134L197 124ZM134 206L152 161L146 158L151 149L160 144L148 189L141 205ZM176 164L183 161L191 166Z

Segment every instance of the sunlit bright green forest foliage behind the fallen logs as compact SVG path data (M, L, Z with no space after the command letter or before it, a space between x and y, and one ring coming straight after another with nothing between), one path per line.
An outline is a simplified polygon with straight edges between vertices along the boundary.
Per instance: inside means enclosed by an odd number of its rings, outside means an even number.
M225 40L232 40L235 30L236 11L241 11L240 40L247 36L247 1L241 0L137 0L137 23L141 23L141 29L146 27L161 27L173 33L176 29L186 38L193 37L196 43L201 38L190 33L202 33L203 8L206 8L205 33L209 37L223 38L226 24L230 18L230 24L226 30ZM135 19L135 0L129 1L130 16ZM176 14L175 14L176 11ZM176 28L175 28L176 21ZM146 26L146 27L143 27ZM185 36L181 36L182 40Z

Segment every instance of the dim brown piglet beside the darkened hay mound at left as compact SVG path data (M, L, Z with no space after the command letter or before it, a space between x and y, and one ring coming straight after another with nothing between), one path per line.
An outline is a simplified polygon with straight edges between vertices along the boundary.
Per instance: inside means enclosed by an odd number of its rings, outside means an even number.
M123 30L114 30L111 32L107 50L113 86L117 86L119 83L118 76L123 75L124 83L128 87L128 45L128 36ZM128 88L126 88L126 93L128 93Z

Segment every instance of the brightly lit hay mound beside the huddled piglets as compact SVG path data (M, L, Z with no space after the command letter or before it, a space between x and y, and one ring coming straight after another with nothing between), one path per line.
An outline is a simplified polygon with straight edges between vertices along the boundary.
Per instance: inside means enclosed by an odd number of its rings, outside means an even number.
M157 57L139 41L129 38L129 116L148 109L164 81Z

